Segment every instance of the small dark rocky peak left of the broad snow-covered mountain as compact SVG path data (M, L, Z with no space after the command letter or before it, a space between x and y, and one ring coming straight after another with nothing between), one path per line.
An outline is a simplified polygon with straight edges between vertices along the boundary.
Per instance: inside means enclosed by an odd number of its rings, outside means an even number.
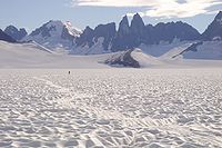
M4 32L7 34L9 34L10 37L12 37L14 40L19 41L21 40L23 37L27 36L27 31L26 29L21 28L21 29L17 29L13 26L9 26L4 29Z

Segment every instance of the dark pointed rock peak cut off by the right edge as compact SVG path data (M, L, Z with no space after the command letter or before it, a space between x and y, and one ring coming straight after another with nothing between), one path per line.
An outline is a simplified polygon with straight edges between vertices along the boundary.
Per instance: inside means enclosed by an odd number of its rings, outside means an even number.
M203 32L203 40L213 40L219 37L222 40L222 11L220 11L213 22L208 27L208 29Z

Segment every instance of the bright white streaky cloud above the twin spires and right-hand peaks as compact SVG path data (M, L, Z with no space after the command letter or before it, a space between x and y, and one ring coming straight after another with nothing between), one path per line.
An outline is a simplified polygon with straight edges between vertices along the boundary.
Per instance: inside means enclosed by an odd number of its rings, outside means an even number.
M73 6L97 7L145 7L142 17L188 18L211 13L213 6L222 6L221 0L72 0ZM128 13L133 16L134 13Z

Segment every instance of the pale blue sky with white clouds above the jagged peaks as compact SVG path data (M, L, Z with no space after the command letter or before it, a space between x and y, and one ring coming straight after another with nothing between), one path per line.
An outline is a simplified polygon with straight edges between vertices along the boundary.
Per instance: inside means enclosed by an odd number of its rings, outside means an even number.
M0 0L0 28L13 24L31 32L49 20L79 29L118 26L123 16L130 20L138 12L145 24L184 21L203 32L220 10L222 0Z

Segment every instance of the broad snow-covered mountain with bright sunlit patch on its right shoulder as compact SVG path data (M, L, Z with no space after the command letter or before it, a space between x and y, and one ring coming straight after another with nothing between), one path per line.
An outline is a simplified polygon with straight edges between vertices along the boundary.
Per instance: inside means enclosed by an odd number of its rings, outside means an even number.
M51 20L24 37L22 41L36 41L51 50L64 51L73 48L74 40L80 33L81 31L73 28L70 22Z

